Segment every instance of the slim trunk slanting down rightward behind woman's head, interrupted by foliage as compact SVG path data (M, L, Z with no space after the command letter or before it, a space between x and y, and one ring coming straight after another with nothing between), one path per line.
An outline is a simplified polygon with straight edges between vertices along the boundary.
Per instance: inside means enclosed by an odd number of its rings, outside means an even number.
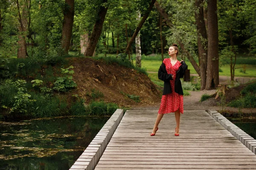
M155 3L155 7L157 8L157 11L164 17L164 19L167 22L167 25L172 28L172 21L169 20L168 14L163 10L163 8L160 7L159 3ZM181 40L177 40L178 44L180 45L180 48L187 54L187 57L189 61L191 62L192 66L195 68L195 71L199 76L201 76L200 67L196 63L195 59L192 57L192 55L187 51L184 47L184 44L181 42Z

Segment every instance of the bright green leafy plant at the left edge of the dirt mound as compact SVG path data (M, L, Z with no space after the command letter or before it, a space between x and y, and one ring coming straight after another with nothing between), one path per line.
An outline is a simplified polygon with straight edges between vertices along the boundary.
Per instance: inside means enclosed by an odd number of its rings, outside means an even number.
M77 87L76 83L72 80L73 77L71 75L74 74L74 71L71 70L72 68L74 68L72 65L69 68L61 68L61 73L66 74L66 76L57 78L54 82L53 90L67 92Z

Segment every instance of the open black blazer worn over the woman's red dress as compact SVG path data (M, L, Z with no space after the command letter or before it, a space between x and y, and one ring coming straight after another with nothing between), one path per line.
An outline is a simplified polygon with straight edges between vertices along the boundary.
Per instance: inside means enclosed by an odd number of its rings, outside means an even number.
M177 61L179 62L179 61ZM188 66L184 61L180 62L181 65L179 67L179 70L176 72L176 78L175 78L175 85L174 85L174 91L177 94L183 95L183 90L180 82L180 78L183 78L186 69ZM163 80L163 95L172 93L172 87L170 80L172 80L172 74L167 74L166 66L164 63L161 64L159 70L158 70L158 79Z

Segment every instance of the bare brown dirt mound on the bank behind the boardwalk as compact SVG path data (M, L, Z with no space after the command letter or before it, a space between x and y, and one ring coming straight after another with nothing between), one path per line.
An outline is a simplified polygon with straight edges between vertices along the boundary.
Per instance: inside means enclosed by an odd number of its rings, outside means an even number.
M88 94L100 91L104 97L98 100L114 102L119 106L151 105L159 102L161 93L153 82L136 70L120 66L116 63L106 64L101 60L91 58L70 58L74 66L73 79L78 88L73 91L90 102ZM140 102L135 102L128 95L140 96Z

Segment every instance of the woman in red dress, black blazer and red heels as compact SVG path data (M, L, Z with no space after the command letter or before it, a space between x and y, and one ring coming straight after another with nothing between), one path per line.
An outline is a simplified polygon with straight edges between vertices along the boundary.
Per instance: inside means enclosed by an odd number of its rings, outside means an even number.
M183 114L183 91L180 78L183 78L187 65L183 60L180 62L177 60L178 54L179 50L177 44L170 46L170 58L164 59L158 70L158 78L164 81L163 96L157 120L150 136L154 136L156 134L158 125L163 118L163 114L173 112L175 112L176 119L175 136L179 136L180 134L180 113Z

